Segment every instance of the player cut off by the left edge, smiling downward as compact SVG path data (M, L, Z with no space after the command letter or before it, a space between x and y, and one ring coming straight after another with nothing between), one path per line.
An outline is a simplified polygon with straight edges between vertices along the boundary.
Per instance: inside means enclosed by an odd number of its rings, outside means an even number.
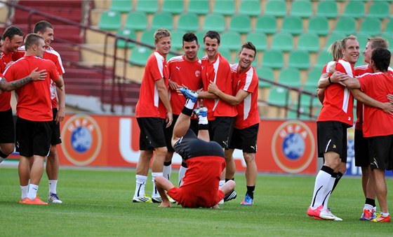
M18 27L8 27L3 34L1 47L0 73L4 73L7 66L13 63L13 52L23 42L23 32ZM18 78L20 79L20 78ZM0 163L15 150L15 131L13 111L11 108L11 92L0 94Z

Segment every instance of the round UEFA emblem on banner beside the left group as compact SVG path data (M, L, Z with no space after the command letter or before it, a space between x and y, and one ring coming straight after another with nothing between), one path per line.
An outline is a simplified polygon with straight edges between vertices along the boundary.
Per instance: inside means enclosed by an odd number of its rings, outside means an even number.
M102 136L97 122L88 115L74 115L62 127L62 150L77 166L90 164L100 152Z

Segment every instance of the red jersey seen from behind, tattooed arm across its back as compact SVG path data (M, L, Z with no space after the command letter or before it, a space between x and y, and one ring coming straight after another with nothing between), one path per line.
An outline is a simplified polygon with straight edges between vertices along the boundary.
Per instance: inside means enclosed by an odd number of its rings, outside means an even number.
M49 85L51 84L51 78L55 78L55 80L59 78L58 70L53 62L34 56L22 57L6 69L4 76L10 82L29 76L36 68L39 71L46 69L48 73L46 79L29 82L15 89L16 94L18 94L16 114L30 121L52 121L53 113Z

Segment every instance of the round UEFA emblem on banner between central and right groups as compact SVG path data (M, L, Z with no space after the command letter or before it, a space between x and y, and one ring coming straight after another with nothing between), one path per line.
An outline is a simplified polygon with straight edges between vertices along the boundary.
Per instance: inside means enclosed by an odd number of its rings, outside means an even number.
M282 170L300 173L309 166L314 153L314 136L305 123L290 120L281 124L274 132L272 154Z

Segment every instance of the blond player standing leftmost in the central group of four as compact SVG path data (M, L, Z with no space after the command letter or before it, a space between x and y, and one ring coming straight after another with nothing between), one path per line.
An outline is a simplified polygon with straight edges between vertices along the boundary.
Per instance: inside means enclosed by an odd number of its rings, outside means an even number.
M171 33L167 29L157 29L154 33L156 51L147 59L145 73L140 85L139 101L135 108L140 128L140 157L136 166L136 187L133 202L160 203L154 178L162 175L164 159L168 149L164 136L164 123L171 126L173 120L171 103L168 99L169 71L166 55L171 50ZM145 184L149 164L152 161L153 193L152 198L145 194Z

